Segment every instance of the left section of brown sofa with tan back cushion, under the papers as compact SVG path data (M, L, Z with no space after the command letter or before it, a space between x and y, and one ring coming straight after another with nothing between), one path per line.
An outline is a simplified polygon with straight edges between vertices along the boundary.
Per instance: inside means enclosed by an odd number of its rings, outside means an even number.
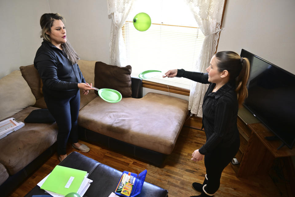
M39 81L40 83L40 81ZM36 98L20 70L0 79L0 121L13 117L22 122ZM56 123L25 123L0 139L0 194L8 195L56 150Z

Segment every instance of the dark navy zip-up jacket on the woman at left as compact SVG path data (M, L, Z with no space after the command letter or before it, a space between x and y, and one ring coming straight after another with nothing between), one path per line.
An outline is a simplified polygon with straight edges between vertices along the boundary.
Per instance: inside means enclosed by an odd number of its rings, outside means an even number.
M78 64L72 65L64 52L43 39L37 50L34 66L48 95L77 92L78 83L85 83Z

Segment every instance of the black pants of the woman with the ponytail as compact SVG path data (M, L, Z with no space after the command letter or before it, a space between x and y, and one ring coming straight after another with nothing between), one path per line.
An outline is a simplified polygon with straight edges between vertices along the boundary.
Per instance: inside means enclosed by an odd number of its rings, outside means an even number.
M240 147L240 140L237 139L234 144L226 147L218 147L204 157L204 163L207 174L207 185L205 191L214 194L220 186L220 178L223 169L237 154Z

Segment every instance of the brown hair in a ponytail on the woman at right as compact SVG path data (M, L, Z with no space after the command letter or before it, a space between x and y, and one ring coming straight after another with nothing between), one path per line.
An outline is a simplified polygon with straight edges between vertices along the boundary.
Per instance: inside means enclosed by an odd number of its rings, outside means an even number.
M242 106L248 96L247 82L250 74L250 62L248 58L240 57L233 51L220 51L215 54L218 71L227 70L230 81L235 82L239 107Z

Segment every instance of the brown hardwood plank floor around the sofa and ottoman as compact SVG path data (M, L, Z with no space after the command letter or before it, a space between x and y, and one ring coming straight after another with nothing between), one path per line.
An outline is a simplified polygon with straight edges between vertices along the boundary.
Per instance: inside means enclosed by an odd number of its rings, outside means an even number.
M172 154L167 156L161 167L155 167L136 158L122 155L118 152L109 150L106 147L100 147L90 143L85 143L90 147L90 151L88 153L80 153L120 171L131 171L138 174L144 169L147 169L148 173L145 181L167 189L169 197L199 195L200 193L191 187L191 183L203 182L206 174L204 161L197 163L191 161L191 154L206 141L204 132L195 129L200 129L201 126L201 119L187 119ZM67 151L69 154L70 152L77 150L73 149L70 144L68 144ZM35 171L33 175L22 183L22 185L18 187L10 197L26 195L26 193L49 174L58 163L57 155L54 154L37 171ZM216 161L216 163L218 163L218 161ZM252 176L248 179L242 179L236 177L236 174L230 165L231 164L229 164L222 173L221 185L215 197L291 196L288 195L290 192L289 186L285 181L281 181L281 175L278 175L278 173L270 172L269 175ZM274 182L276 182L276 184Z

